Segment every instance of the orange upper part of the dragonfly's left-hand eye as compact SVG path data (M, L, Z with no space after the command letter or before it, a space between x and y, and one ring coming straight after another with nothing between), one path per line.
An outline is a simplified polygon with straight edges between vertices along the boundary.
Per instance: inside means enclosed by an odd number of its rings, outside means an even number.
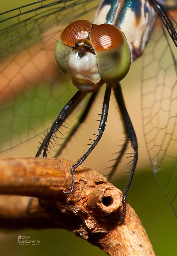
M61 41L68 46L74 46L80 39L88 37L91 28L92 24L88 20L76 20L63 30Z

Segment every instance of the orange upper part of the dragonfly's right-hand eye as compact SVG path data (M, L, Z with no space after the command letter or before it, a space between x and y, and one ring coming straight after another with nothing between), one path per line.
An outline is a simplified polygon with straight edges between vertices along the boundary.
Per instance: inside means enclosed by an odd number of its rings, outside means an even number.
M120 29L110 24L95 26L90 32L90 41L97 52L116 48L124 40Z

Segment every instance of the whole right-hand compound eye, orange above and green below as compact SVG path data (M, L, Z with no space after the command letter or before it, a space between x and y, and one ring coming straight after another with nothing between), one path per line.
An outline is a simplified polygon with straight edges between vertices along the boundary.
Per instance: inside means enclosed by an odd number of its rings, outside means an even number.
M130 48L122 31L114 25L101 24L91 30L90 41L102 80L106 83L121 81L131 64Z

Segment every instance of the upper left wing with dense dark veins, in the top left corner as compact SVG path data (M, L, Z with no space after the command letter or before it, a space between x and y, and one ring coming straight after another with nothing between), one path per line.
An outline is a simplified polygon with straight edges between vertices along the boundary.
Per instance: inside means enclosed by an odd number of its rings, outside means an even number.
M98 6L93 0L42 0L0 14L0 58L19 52L44 38L49 28L58 31ZM57 26L57 27L56 27ZM51 32L51 30L49 31ZM48 36L49 36L48 33ZM57 38L58 40L58 38Z

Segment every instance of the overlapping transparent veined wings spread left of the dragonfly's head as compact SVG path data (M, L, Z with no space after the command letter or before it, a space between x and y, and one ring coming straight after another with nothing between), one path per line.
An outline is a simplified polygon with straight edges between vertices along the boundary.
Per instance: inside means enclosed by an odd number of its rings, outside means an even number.
M0 153L50 128L76 89L55 63L55 45L100 1L51 0L0 14Z

